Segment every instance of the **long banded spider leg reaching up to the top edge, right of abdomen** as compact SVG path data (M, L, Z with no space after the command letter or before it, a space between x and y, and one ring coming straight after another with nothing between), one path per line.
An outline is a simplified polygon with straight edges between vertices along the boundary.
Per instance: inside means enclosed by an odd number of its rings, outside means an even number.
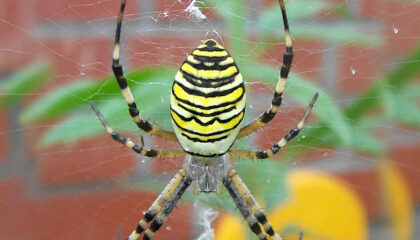
M249 134L263 127L265 124L271 121L274 118L274 116L276 116L277 111L281 105L284 86L286 85L287 77L289 75L290 68L292 66L293 49L292 49L292 37L290 35L289 23L287 21L286 8L284 6L284 1L279 0L279 4L280 4L280 9L281 9L281 14L283 16L284 35L286 39L286 52L283 54L283 65L281 66L280 76L276 85L276 91L274 93L274 97L271 102L270 108L265 113L263 113L258 119L256 119L254 122L243 127L239 131L237 138L248 136Z

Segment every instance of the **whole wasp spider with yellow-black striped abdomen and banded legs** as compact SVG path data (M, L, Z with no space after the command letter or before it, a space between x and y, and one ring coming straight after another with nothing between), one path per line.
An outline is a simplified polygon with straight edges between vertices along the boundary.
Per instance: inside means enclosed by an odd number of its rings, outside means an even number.
M265 159L273 156L303 128L318 98L318 93L315 93L300 122L270 149L259 151L230 149L236 139L257 131L272 120L281 104L293 51L283 0L279 0L279 4L283 16L286 52L283 55L283 65L270 108L254 122L240 127L245 112L245 88L242 76L230 54L215 40L208 39L192 51L175 75L170 104L174 132L171 132L154 126L140 116L124 78L119 62L121 22L125 7L125 0L122 0L115 34L112 70L137 126L152 136L178 141L182 150L146 149L143 145L135 144L114 132L99 110L93 104L91 106L112 138L138 154L147 157L186 158L184 167L175 174L145 212L143 219L128 239L137 239L144 231L143 239L151 239L191 184L194 193L219 192L223 184L258 239L281 239L274 232L245 183L228 163L230 157Z

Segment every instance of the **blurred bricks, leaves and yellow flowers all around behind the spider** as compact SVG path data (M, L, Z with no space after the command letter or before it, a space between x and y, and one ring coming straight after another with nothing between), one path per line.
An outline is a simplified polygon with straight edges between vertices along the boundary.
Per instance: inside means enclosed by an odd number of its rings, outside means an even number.
M119 0L2 0L0 238L125 239L183 159L149 159L112 76ZM420 239L420 2L286 1L295 57L283 105L236 149L270 147L318 91L305 130L273 159L234 165L284 239ZM268 109L285 50L276 1L128 0L122 56L142 116L171 129L177 68L214 38ZM226 191L183 196L155 239L255 239Z

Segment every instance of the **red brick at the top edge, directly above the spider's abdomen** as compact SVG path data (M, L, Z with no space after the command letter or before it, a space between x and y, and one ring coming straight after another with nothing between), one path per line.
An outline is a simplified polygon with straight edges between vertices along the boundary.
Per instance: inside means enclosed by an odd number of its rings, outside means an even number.
M197 1L200 2L200 1ZM154 3L154 18L159 22L172 22L172 21L198 21L199 19L185 11L188 5L191 3L190 0L157 0ZM218 18L217 13L212 9L213 7L205 6L201 7L202 4L196 4L201 12L206 16L207 19ZM203 20L207 21L207 20Z

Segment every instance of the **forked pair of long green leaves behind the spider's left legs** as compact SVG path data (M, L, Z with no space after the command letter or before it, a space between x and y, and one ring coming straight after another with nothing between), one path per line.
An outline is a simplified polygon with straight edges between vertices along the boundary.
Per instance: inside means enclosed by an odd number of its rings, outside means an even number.
M172 126L169 116L169 96L175 72L176 70L171 68L153 68L126 74L141 116L152 119L153 123L167 129ZM105 79L105 82L84 81L69 84L36 102L34 106L31 106L31 109L25 111L25 119L39 120L63 115L76 107L88 109L85 113L59 122L46 132L40 143L43 147L104 134L103 126L93 111L88 108L88 102L91 100L97 104L105 119L117 132L132 133L137 131L140 133L139 128L131 120L127 104L121 96L117 84L110 84L115 80L111 77ZM114 86L110 87L109 85ZM86 113L87 111L89 113ZM29 122L29 120L26 121ZM77 127L77 124L81 125L80 128ZM95 127L87 129L92 125Z

